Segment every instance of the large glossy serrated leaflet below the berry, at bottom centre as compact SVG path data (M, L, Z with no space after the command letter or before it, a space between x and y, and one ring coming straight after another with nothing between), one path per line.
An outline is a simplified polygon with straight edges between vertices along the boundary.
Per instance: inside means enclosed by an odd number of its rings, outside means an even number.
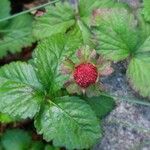
M87 149L101 137L95 113L78 97L49 101L36 117L35 127L45 140L67 149Z

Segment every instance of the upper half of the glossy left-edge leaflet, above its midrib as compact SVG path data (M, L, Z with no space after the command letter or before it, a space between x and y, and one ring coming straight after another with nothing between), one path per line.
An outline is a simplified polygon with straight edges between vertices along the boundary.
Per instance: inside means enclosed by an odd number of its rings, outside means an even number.
M0 68L0 77L18 83L31 86L34 89L42 89L32 65L26 62L12 62Z

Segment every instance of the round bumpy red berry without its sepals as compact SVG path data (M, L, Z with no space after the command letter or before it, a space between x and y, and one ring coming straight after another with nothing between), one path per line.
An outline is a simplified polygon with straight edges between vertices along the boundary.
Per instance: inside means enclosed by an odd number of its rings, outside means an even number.
M94 84L98 77L97 68L91 63L82 63L75 67L73 77L75 82L82 88Z

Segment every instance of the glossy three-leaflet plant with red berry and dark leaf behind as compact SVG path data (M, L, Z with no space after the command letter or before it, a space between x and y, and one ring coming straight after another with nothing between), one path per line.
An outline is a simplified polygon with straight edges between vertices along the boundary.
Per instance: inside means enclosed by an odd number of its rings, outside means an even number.
M1 67L0 112L34 119L37 133L54 146L87 149L102 137L101 119L115 103L100 92L89 97L85 93L90 86L98 85L106 70L112 69L110 65L104 67L104 60L95 51L81 47L79 34L71 35L56 34L39 42L29 63L13 62ZM67 58L74 65L64 75L62 64ZM67 92L71 78L81 89L80 94Z

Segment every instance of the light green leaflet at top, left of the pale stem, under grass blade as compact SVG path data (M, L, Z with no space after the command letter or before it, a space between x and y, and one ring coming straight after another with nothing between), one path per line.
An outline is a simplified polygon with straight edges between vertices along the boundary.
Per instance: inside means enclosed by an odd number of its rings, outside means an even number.
M65 33L73 24L74 11L68 2L58 2L46 8L46 13L37 17L33 33L37 39L43 39L56 33Z

